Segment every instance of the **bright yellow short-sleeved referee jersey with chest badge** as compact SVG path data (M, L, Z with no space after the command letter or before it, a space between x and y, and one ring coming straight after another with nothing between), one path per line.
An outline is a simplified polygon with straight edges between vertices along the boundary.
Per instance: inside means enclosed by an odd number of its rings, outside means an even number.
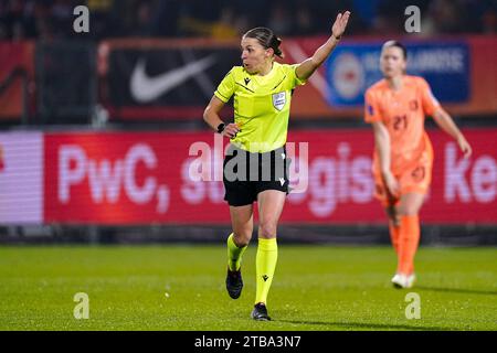
M285 145L292 93L305 84L295 74L297 66L274 62L265 76L251 75L242 66L226 74L214 95L224 103L234 96L234 122L240 131L231 140L233 145L252 153Z

